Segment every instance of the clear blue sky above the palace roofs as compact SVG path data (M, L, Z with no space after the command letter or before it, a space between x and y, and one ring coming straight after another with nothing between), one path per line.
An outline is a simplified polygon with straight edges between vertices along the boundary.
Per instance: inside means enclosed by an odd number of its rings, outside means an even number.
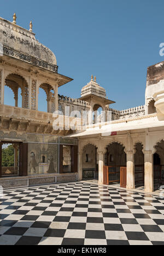
M60 94L78 98L93 74L116 101L111 106L122 110L144 104L147 67L164 60L163 9L163 0L7 0L0 16L12 21L15 12L26 29L32 20L36 38L55 53L58 72L74 79Z

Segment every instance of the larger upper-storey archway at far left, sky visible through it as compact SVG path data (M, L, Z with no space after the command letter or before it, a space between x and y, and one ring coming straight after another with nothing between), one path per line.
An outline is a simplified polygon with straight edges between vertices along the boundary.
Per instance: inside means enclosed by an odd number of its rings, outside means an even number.
M25 78L10 74L5 78L4 104L28 109L28 84Z

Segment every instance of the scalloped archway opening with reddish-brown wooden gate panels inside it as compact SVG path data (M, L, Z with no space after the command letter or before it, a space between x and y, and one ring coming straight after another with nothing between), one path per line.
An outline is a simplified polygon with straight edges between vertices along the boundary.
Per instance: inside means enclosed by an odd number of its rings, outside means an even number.
M126 187L126 153L120 143L107 146L105 154L104 184Z

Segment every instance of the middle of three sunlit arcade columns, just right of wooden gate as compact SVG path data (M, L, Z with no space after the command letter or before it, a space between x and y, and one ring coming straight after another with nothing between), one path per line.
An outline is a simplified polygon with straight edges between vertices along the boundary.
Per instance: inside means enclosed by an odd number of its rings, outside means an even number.
M134 183L134 153L133 151L126 152L126 167L127 167L127 189L135 189Z

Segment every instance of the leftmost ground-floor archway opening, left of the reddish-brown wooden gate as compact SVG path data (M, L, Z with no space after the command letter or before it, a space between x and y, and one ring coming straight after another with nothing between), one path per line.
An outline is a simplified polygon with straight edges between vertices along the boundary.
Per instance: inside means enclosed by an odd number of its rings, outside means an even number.
M83 149L82 155L83 180L98 180L97 148L88 144Z

